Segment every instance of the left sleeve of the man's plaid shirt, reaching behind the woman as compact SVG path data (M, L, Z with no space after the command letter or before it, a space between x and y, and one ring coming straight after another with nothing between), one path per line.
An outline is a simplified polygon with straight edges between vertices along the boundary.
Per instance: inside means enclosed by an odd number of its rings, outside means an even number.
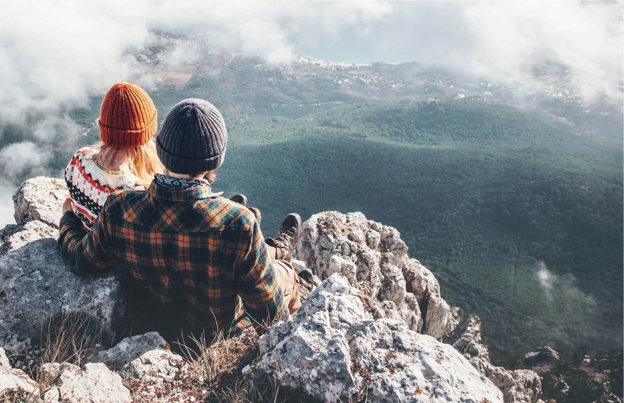
M117 256L110 244L106 204L88 233L80 218L72 211L64 213L59 223L61 253L72 271L80 277L96 277L117 263Z

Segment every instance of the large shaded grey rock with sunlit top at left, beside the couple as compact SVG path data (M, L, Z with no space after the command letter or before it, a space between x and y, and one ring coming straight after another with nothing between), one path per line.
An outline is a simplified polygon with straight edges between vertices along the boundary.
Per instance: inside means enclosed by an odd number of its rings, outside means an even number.
M0 346L11 354L40 336L51 318L92 318L110 336L124 311L115 274L81 279L62 259L56 227L66 192L62 181L37 177L14 195L18 225L3 231L7 253L0 258Z

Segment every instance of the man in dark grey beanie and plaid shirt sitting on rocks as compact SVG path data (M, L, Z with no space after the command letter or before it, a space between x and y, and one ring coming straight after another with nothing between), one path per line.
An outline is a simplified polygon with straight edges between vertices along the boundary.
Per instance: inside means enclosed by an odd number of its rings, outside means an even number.
M175 105L157 136L164 175L147 191L110 195L89 233L64 213L59 245L72 270L97 276L125 263L136 286L207 335L288 320L313 288L311 272L291 265L301 218L286 216L267 245L246 198L236 202L210 188L226 146L214 105Z

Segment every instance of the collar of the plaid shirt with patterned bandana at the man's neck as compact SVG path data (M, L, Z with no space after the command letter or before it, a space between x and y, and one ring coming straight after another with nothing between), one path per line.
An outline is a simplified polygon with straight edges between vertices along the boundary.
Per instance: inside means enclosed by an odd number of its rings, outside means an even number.
M156 197L173 201L197 200L223 194L223 192L213 193L210 182L205 179L185 180L167 177L162 173L154 175L154 180L147 190Z

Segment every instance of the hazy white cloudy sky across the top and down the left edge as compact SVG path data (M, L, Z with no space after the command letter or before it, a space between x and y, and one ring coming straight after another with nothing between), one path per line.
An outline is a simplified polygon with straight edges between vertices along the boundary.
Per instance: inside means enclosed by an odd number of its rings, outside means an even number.
M27 110L42 119L24 126L38 139L36 150L32 143L0 150L0 208L11 203L24 160L44 166L50 147L42 145L78 130L62 110L139 71L124 52L141 46L150 28L208 37L270 62L299 52L421 61L499 82L524 80L535 62L558 61L578 77L585 99L607 94L620 102L622 21L622 2L2 0L0 140L7 123L26 125ZM7 220L0 211L0 225Z

